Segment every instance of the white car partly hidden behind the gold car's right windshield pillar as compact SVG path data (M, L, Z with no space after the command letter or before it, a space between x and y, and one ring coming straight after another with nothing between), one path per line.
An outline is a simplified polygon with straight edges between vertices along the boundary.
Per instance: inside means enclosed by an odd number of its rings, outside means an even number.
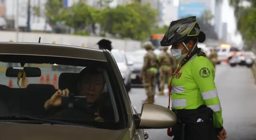
M134 62L132 60L128 60L127 58L128 54L126 54L124 51L112 49L111 53L114 56L117 66L121 72L126 90L127 92L129 92L132 88L131 75L132 75L132 65L134 64Z

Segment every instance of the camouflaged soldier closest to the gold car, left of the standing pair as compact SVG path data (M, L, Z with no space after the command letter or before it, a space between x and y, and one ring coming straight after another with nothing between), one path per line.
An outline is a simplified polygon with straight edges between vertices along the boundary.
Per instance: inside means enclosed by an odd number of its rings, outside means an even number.
M156 54L152 51L153 44L150 41L143 43L143 47L147 53L144 56L144 64L140 74L142 84L146 90L147 99L144 103L154 103L154 95L156 93Z

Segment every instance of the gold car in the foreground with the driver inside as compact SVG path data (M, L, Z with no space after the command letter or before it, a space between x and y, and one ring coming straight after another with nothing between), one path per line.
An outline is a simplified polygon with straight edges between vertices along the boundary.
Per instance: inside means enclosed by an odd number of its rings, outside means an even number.
M8 66L9 62L20 64L18 67L1 69L0 121L1 126L5 128L1 130L2 138L8 138L8 140L38 138L144 140L148 138L148 133L144 132L144 129L169 128L177 122L174 112L160 105L144 104L141 113L136 112L126 92L121 72L110 51L44 43L0 43L0 45L2 46L1 66ZM58 51L60 49L61 52ZM24 67L25 64L61 64L85 67L85 69L93 68L101 72L104 80L97 76L96 79L92 79L90 77L92 74L86 73L83 84L86 84L84 88L90 92L100 89L102 100L98 103L101 107L110 107L105 111L113 115L112 121L108 122L106 119L98 122L94 119L87 119L87 117L92 118L90 113L94 112L91 112L90 106L84 105L89 103L88 97L93 96L78 94L78 90L82 88L79 73L59 72L58 81L54 74L53 81L58 83L58 86L54 86L41 83L41 76L51 73L50 67ZM18 82L21 80L21 85L10 82L17 79ZM99 88L103 87L100 83L106 87L104 92ZM47 116L45 113L54 113L52 112L54 110L47 112L44 105L58 89L70 91L69 95L62 95L62 98L59 98L61 101L59 105L61 104L64 110L61 112L55 110L56 116L50 114ZM109 104L100 104L105 101L109 101ZM83 115L75 112L65 114L65 111L81 111Z

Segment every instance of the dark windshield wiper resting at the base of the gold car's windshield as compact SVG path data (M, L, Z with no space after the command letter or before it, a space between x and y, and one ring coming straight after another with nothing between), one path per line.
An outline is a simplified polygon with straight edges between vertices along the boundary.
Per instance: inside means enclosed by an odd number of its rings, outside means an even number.
M19 121L34 121L37 122L46 122L50 124L64 124L64 125L78 125L70 122L63 122L63 121L56 121L56 120L49 120L49 119L42 119L42 118L34 118L29 116L1 116L0 121L6 121L6 122L19 122Z

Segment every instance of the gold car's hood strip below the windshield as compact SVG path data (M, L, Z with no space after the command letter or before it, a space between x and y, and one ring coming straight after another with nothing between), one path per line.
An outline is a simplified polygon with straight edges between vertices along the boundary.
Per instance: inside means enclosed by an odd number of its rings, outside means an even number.
M2 123L1 138L6 140L128 140L122 130L106 130L68 125Z

